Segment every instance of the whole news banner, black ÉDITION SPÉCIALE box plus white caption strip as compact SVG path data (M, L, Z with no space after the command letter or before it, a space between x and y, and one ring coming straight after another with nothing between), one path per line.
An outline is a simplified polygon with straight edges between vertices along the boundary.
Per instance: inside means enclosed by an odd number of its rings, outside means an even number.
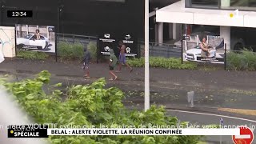
M9 126L8 138L48 138L50 135L240 135L241 128L233 129L51 129L47 125Z

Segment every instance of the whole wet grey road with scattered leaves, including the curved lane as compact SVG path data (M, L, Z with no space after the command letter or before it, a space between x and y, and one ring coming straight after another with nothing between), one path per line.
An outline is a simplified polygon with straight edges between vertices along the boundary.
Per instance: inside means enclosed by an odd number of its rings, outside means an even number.
M6 60L1 63L0 74L10 74L10 81L23 78L34 78L42 70L51 73L50 84L62 82L61 90L67 86L86 85L98 78L108 79L106 64L92 64L91 78L84 80L81 64L60 62L33 62L26 60ZM118 73L115 82L106 80L106 87L115 86L125 93L123 103L127 108L144 108L143 68L134 68L130 73L126 68ZM196 125L219 124L223 118L228 126L254 126L255 115L255 73L235 71L202 71L202 70L166 70L150 68L150 104L166 106L167 114ZM47 89L46 93L48 92ZM194 108L189 107L187 92L195 92ZM230 108L230 111L221 109ZM252 110L253 113L238 113L236 110ZM255 131L254 131L255 133ZM208 143L232 143L231 137L208 136Z

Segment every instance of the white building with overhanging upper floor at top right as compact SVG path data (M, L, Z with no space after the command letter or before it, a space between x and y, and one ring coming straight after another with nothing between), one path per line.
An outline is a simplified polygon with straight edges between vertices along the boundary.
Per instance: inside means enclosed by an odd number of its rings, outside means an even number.
M227 49L239 43L231 42L234 35L242 32L250 35L256 31L256 1L254 0L182 0L156 11L156 22L169 23L174 34L181 24L217 26L219 35L224 38ZM163 31L162 27L158 31ZM254 32L254 33L251 33ZM245 34L245 33L244 33ZM249 41L248 41L249 42ZM247 43L248 43L247 42ZM252 42L252 41L251 41ZM234 44L233 44L234 43ZM254 44L255 45L255 44Z

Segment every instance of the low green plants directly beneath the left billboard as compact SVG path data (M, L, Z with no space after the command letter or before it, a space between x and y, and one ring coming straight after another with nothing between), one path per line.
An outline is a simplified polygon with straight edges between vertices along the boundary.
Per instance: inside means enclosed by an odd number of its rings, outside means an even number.
M38 51L18 50L17 57L31 60L46 60L49 55Z

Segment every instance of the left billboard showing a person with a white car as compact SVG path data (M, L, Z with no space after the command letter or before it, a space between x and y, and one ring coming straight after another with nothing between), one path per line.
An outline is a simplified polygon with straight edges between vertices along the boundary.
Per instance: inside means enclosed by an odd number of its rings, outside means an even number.
M55 53L54 26L17 24L16 48Z

